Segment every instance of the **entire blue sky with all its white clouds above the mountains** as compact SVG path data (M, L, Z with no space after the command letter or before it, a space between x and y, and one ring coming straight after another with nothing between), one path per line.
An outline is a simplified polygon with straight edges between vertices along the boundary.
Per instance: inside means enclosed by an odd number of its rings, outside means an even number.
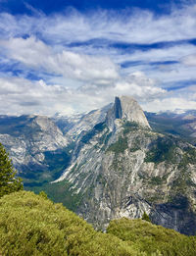
M73 115L130 95L196 109L196 2L0 0L0 115Z

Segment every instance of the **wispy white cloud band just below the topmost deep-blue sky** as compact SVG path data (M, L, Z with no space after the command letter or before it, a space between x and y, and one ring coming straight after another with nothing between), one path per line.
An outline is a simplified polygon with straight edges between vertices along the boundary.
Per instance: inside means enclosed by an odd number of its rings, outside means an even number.
M2 13L0 26L4 36L40 33L41 37L53 42L69 43L94 38L132 43L155 43L190 39L195 35L196 5L173 9L170 15L154 16L144 10L111 12L97 10L82 15L68 9L60 15L47 17L17 16Z

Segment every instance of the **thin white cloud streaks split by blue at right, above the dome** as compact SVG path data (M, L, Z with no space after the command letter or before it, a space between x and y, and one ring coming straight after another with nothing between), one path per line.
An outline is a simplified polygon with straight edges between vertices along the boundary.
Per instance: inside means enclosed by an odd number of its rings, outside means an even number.
M191 54L195 52L196 46L181 44L149 51L138 50L131 55L116 54L115 57L118 63L138 62L138 64L130 65L124 69L123 74L140 70L147 74L148 77L159 80L160 84L169 82L174 84L181 80L196 80L195 67L193 66L195 55ZM187 58L187 55L189 58ZM173 63L168 65L167 62ZM153 63L154 65L152 65Z

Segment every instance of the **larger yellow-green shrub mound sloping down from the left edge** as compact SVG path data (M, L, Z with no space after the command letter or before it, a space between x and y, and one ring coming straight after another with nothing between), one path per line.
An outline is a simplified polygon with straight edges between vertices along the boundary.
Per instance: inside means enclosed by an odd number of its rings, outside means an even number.
M141 255L113 234L95 231L62 204L26 191L0 199L0 252L4 256Z

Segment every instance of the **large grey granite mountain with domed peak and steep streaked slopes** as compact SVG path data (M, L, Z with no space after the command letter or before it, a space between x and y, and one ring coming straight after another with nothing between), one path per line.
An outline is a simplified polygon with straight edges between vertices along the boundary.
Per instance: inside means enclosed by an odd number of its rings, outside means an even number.
M81 136L67 180L80 201L77 213L105 229L112 219L152 220L184 233L196 231L196 149L151 130L139 105L116 98L106 122Z

